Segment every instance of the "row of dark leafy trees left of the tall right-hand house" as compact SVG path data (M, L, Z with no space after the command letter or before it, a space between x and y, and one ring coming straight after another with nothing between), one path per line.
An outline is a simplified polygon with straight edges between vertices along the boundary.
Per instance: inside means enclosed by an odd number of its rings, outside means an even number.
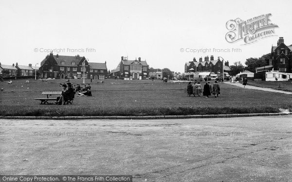
M243 66L240 61L237 61L234 63L234 65L231 65L231 71L230 75L236 75L240 72L243 72L244 70L248 70L250 72L256 73L256 68L261 66L267 66L269 65L269 60L271 57L271 53L263 55L261 57L250 57L246 59L245 65Z

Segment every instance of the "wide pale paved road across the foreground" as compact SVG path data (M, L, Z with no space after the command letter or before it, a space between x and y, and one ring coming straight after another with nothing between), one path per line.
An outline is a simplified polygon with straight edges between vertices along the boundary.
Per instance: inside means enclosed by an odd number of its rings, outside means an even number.
M292 116L0 120L0 174L292 181Z

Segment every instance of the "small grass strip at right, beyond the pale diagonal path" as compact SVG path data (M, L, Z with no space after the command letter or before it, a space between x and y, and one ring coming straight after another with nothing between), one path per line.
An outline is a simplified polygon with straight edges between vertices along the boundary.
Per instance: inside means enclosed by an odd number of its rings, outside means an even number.
M291 81L285 82L277 82L277 81L250 81L248 85L262 87L262 88L270 88L280 91L292 91L292 83Z

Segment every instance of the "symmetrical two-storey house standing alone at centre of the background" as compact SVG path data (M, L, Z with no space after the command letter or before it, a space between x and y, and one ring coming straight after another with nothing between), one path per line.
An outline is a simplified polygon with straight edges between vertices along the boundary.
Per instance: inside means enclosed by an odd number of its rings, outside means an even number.
M141 80L149 77L149 65L146 61L141 61L141 57L135 60L128 60L121 57L120 78L125 80Z

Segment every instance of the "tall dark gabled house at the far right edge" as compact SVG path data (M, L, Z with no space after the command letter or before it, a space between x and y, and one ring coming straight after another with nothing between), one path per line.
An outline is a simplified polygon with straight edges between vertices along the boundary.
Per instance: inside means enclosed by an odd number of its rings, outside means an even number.
M283 37L279 37L277 46L272 45L269 65L274 71L292 73L292 45L285 45Z

